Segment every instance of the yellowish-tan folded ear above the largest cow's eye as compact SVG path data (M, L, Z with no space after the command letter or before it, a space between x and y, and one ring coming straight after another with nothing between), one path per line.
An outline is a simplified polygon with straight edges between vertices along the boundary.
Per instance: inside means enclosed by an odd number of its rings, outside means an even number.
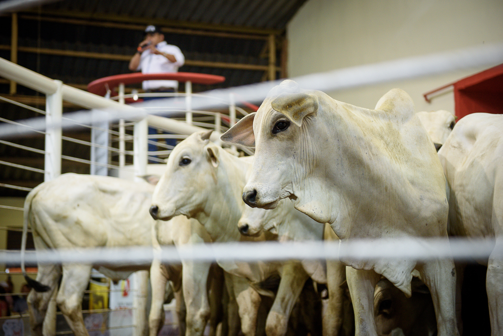
M300 127L305 116L318 111L318 98L308 94L282 95L272 101L271 107Z

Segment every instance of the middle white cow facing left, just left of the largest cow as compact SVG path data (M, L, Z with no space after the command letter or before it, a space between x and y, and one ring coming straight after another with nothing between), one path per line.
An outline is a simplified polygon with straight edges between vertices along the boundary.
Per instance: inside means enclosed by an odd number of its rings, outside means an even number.
M228 153L209 141L210 134L211 131L194 133L174 148L167 160L166 172L156 186L151 215L164 220L177 215L196 218L214 242L267 239L264 235L243 237L236 227L246 206L241 191L251 158ZM268 235L269 240L275 239ZM269 336L285 334L292 307L308 279L302 264L217 262L227 274L235 276L233 291L241 329L246 335L256 332L259 292L263 293L259 284L280 274L280 287L267 317L266 333Z

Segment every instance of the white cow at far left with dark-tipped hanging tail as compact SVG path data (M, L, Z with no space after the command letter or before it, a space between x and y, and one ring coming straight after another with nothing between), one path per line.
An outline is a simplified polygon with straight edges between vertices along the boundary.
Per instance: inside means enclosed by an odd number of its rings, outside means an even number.
M146 182L77 174L63 174L55 180L45 182L32 190L25 201L23 239L26 241L28 225L33 230L36 250L78 248L78 247L117 247L132 245L151 245L155 221L148 215L154 186ZM185 217L175 218L177 227L187 225ZM188 224L190 225L190 223ZM24 263L23 263L24 264ZM53 334L55 332L55 306L53 300L59 278L62 281L57 292L57 304L63 312L68 325L75 335L88 335L81 314L83 292L86 289L93 267L113 278L127 277L132 271L148 270L150 265L135 265L127 262L114 266L113 273L101 265L39 264L37 280L26 276L33 290L28 296L32 334ZM108 265L107 268L111 266ZM24 265L23 265L24 268ZM175 283L181 271L171 268L171 278ZM146 312L146 281L148 274L143 272L139 278L144 285L138 295L138 311ZM145 282L145 283L143 283ZM205 282L206 283L206 282ZM165 285L162 283L162 285ZM157 288L152 282L152 287ZM164 290L164 289L163 289ZM164 295L152 300L162 304ZM177 304L183 303L179 292ZM209 309L208 309L209 310ZM153 315L152 315L153 314ZM151 309L151 316L160 315L160 310ZM185 318L179 316L183 321ZM138 319L138 330L146 331L145 318ZM160 319L159 319L160 320ZM183 323L182 323L183 328ZM157 326L150 328L157 330ZM157 332L151 333L156 335Z

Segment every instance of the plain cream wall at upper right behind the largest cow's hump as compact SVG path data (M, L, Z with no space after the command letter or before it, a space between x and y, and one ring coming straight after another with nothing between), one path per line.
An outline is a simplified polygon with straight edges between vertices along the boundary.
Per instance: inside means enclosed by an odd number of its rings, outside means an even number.
M288 73L293 78L503 42L503 2L308 0L288 24L287 37ZM454 112L452 90L431 104L423 94L488 67L491 66L327 94L339 101L374 108L388 90L401 88L412 97L416 111Z

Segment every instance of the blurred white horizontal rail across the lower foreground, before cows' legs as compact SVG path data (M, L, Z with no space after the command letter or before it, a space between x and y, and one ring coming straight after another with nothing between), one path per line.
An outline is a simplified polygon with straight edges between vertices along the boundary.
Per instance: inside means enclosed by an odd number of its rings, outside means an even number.
M229 242L182 246L162 246L155 257L164 263L181 260L208 261L284 261L319 259L400 259L427 261L454 258L456 260L487 260L494 248L494 239L402 237L396 239L306 242ZM95 263L100 265L148 265L154 257L151 246L117 248L74 248L26 251L26 263L61 264ZM501 256L503 258L503 256ZM19 251L0 251L0 263L20 263Z

